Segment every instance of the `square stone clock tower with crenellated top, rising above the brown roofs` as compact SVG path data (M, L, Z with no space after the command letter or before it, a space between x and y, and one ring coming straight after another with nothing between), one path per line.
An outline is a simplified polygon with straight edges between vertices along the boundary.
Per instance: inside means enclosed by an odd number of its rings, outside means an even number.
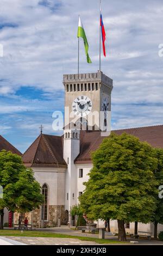
M83 129L108 130L110 126L112 80L103 72L64 75L65 127L82 120ZM74 129L79 129L75 126Z

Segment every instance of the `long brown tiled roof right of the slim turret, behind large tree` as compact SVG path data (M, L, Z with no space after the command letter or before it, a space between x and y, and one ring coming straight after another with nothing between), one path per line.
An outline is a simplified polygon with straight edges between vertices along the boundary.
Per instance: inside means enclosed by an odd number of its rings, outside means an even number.
M163 148L163 125L115 130L112 132L117 135L126 132L138 137L140 141L148 142L155 148ZM104 138L101 137L100 131L82 131L80 133L80 154L75 163L91 163L91 152L99 147Z

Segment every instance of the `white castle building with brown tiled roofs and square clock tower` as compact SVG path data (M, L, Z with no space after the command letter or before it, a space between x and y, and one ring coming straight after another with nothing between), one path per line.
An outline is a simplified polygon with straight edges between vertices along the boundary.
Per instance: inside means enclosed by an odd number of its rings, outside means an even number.
M45 202L40 209L25 214L35 227L56 227L71 222L70 209L78 204L83 182L89 179L91 153L102 143L104 132L110 129L112 80L102 72L64 75L65 128L63 136L40 134L23 154L23 162L34 170L42 187ZM67 112L68 109L68 112ZM68 113L68 114L66 114ZM128 132L154 147L163 147L160 137L163 126L117 130ZM151 137L151 134L153 137ZM107 135L107 133L106 133ZM19 214L15 214L17 223ZM104 222L99 220L99 227ZM117 221L110 221L111 231L117 232ZM139 231L153 231L153 224L138 224ZM159 225L158 231L162 230ZM126 223L133 233L134 223Z

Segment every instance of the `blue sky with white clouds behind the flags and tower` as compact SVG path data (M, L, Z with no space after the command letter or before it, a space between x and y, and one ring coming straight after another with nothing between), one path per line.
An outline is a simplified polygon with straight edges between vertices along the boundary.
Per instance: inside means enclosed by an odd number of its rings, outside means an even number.
M114 80L112 129L163 124L162 0L102 0L106 58L102 71ZM52 129L52 113L64 109L63 74L77 72L80 14L92 64L83 42L80 72L98 70L99 0L1 0L0 134L24 152Z

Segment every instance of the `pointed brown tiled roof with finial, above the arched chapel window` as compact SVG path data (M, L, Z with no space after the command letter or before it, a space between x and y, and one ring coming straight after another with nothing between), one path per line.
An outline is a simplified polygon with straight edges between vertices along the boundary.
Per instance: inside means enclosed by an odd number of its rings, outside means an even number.
M26 167L65 167L62 137L40 134L22 158Z

